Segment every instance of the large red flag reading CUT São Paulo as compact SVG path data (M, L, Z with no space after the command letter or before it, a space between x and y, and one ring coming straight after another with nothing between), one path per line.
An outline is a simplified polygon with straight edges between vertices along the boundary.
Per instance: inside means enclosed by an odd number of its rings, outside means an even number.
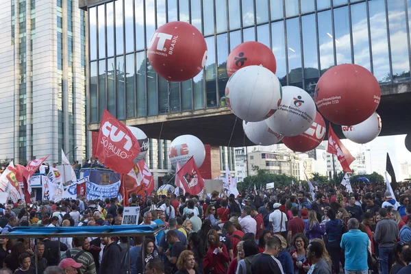
M140 153L140 144L129 129L104 110L95 156L100 162L120 174L127 174Z

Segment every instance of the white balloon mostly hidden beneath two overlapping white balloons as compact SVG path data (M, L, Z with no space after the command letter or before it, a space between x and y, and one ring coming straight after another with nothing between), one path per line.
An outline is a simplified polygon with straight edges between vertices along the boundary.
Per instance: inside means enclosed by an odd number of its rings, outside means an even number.
M249 138L249 140L256 145L274 145L284 137L273 132L265 121L242 121L242 129L244 129L245 135Z

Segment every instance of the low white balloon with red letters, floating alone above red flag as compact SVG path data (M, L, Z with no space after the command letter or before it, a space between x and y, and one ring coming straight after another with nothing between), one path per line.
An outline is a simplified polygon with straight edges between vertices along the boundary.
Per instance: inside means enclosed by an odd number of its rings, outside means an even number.
M181 135L171 142L169 159L173 166L177 167L177 162L183 166L192 156L194 156L197 167L200 167L206 158L206 149L199 138L192 135Z

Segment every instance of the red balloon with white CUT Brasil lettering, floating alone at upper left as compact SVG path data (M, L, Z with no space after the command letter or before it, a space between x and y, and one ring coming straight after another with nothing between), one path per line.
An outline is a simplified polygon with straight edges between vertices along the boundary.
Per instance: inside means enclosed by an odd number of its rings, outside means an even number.
M147 53L158 75L167 81L182 82L203 69L207 61L207 44L196 27L175 21L155 30Z

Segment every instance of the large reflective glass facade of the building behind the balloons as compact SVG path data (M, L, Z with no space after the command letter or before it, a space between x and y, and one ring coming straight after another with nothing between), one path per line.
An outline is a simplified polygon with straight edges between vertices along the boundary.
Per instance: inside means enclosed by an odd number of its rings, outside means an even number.
M410 82L411 0L116 0L88 7L89 123L220 108L229 52L273 50L283 86L314 93L331 66L354 63L381 85ZM147 58L161 25L185 21L206 38L208 60L186 82L159 77Z

